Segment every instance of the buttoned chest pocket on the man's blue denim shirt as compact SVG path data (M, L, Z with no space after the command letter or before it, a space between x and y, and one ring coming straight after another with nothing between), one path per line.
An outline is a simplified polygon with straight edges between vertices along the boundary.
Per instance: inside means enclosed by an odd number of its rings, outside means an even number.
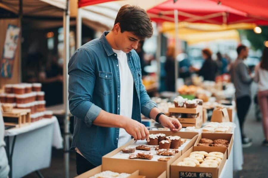
M99 83L97 89L102 95L110 95L112 93L112 80L112 72L99 71Z

